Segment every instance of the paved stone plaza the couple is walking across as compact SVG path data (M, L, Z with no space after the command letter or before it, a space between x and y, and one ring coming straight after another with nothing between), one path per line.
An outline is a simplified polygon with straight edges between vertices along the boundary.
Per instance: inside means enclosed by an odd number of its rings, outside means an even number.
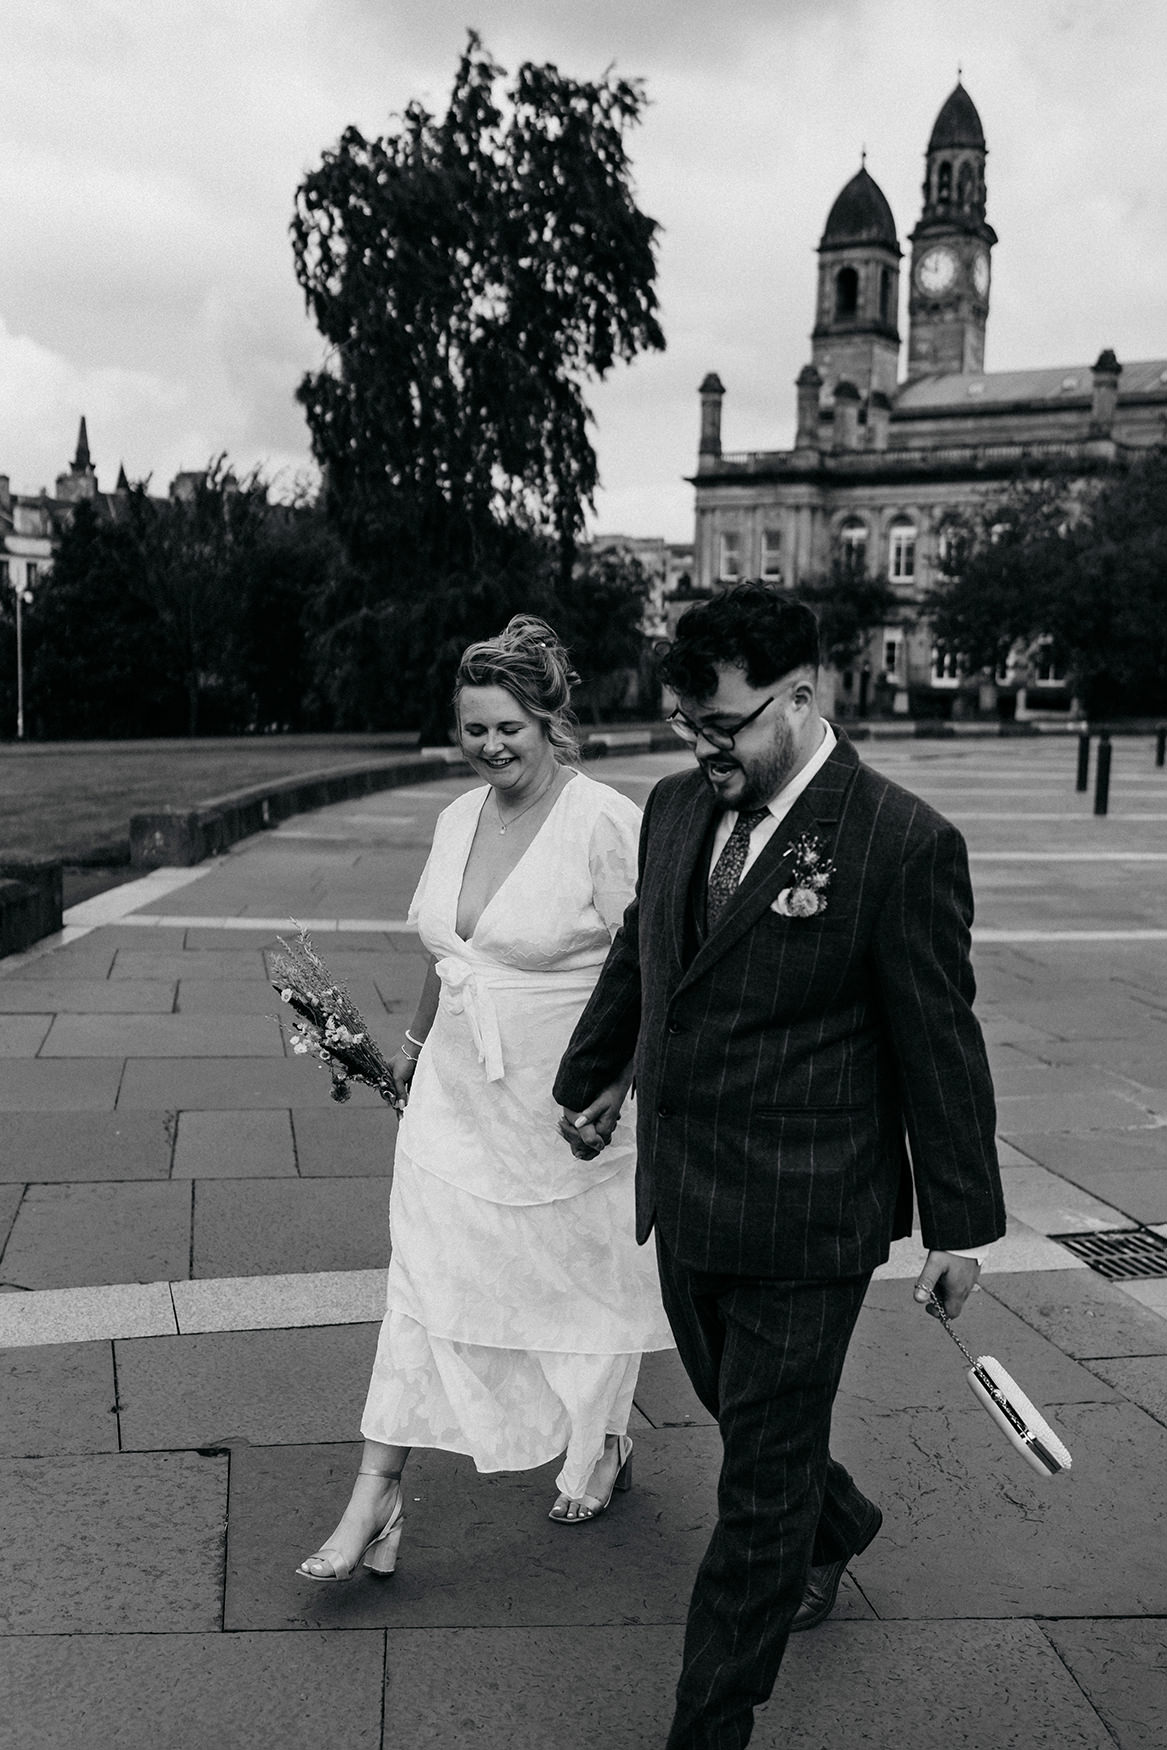
M871 1284L835 1446L884 1531L796 1636L759 1750L1167 1745L1167 1276L1052 1236L1167 1236L1167 772L1116 740L875 740L966 833L1010 1234L959 1330L1074 1454L1032 1475L912 1302ZM644 802L686 754L590 770ZM406 1472L385 1582L311 1586L355 1466L392 1113L289 1054L268 959L311 924L395 1045L406 908L451 777L299 816L73 908L0 962L0 1750L660 1750L717 1432L647 1358L635 1488L548 1522L556 1466Z

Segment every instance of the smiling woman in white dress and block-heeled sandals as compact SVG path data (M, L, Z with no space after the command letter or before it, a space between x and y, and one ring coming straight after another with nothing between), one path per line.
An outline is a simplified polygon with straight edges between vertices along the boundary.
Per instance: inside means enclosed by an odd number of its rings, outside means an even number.
M415 1446L479 1470L563 1454L549 1517L579 1526L630 1482L646 1349L672 1348L633 1237L633 1130L563 1157L551 1085L637 870L640 812L576 765L567 651L518 614L455 682L485 788L439 816L409 919L432 961L399 1054L388 1309L339 1524L297 1573L392 1573ZM626 1083L632 1082L632 1066Z

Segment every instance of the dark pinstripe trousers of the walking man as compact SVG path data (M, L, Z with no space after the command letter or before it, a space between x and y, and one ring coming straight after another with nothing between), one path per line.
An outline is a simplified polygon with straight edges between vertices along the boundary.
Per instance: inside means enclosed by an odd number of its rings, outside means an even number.
M831 1407L870 1276L693 1270L658 1237L665 1311L717 1418L717 1526L698 1568L667 1750L740 1750L773 1689L807 1570L849 1558L871 1503L829 1456Z

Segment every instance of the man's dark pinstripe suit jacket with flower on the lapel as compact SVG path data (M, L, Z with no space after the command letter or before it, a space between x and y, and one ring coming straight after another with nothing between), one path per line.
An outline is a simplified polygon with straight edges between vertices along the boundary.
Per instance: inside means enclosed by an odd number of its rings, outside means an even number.
M696 770L651 793L637 898L555 1085L579 1111L635 1055L639 1239L656 1223L695 1269L857 1276L910 1232L913 1183L926 1246L996 1239L961 833L840 735L695 943L714 810ZM835 877L824 912L787 919L773 900L807 831Z

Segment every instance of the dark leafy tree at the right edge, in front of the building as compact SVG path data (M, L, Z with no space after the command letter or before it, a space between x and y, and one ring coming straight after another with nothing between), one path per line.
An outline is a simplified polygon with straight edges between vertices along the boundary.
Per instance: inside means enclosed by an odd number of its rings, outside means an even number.
M1088 485L1017 481L962 546L931 607L969 665L1052 639L1092 716L1167 709L1167 450Z

